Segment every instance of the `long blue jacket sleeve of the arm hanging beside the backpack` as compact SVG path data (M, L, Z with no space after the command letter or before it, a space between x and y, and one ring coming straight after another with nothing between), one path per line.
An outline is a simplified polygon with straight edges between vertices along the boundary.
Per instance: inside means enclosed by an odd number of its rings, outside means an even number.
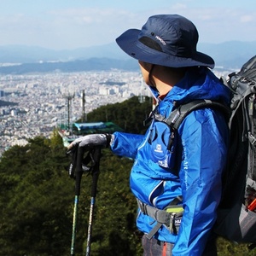
M221 114L190 113L179 128L183 148L180 180L183 219L173 255L201 255L216 220L228 130Z

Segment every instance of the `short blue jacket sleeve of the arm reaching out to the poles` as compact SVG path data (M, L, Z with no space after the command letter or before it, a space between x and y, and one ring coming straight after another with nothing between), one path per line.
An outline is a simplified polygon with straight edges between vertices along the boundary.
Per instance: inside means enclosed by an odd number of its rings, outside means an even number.
M114 132L111 150L114 154L135 159L137 148L143 143L144 136L125 132Z

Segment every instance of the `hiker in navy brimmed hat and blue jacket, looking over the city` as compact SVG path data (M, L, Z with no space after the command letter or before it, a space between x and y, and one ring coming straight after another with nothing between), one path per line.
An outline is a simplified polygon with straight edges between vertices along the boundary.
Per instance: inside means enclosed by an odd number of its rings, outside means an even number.
M196 49L198 38L195 25L181 15L154 15L141 30L121 34L117 44L137 59L158 102L148 131L93 134L69 146L109 147L135 160L130 185L139 206L143 255L217 255L212 227L228 148L224 114L213 108L195 110L174 132L154 118L199 99L229 104L230 91L210 70L214 61ZM181 219L173 218L180 212L175 207L182 208ZM166 211L169 218L161 222Z

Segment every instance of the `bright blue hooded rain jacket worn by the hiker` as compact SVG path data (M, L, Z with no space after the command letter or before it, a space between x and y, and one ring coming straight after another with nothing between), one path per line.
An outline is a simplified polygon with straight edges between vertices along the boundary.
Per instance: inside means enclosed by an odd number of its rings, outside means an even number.
M154 94L157 96L156 91ZM195 99L229 103L230 92L210 70L198 67L187 72L159 102L159 112L168 116L173 102ZM130 184L139 200L164 209L177 195L183 195L184 212L178 234L172 235L162 226L154 237L175 243L173 255L201 255L221 197L229 137L224 114L212 108L190 113L179 126L172 153L164 164L158 161L159 155L150 140L160 130L159 125L153 121L145 135L115 132L111 148L114 154L135 159ZM161 143L161 148L166 148L166 142ZM139 230L147 234L154 225L152 218L138 212Z

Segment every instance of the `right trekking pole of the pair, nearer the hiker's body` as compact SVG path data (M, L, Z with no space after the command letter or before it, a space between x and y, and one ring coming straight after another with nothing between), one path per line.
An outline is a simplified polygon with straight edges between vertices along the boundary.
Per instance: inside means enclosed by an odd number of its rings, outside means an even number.
M96 188L97 181L100 172L100 159L101 159L101 148L95 148L93 152L94 166L92 167L92 184L91 184L91 193L90 193L90 214L88 221L88 233L87 233L87 247L86 247L86 256L90 256L90 238L92 231L92 221L93 221L93 212L96 202Z

